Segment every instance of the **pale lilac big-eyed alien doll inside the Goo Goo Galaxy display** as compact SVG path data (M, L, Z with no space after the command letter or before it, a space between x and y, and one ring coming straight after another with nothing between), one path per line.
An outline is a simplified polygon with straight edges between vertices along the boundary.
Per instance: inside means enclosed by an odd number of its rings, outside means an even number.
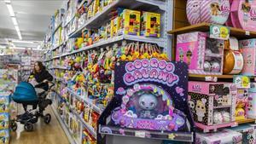
M140 96L138 103L139 107L142 109L140 118L153 119L156 117L157 112L155 111L155 108L157 107L158 100L153 94L144 93Z

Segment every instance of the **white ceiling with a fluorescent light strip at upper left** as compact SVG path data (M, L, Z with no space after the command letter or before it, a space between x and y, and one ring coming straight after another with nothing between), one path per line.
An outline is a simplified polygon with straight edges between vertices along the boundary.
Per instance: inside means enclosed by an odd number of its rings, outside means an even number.
M50 23L51 15L55 13L56 9L60 9L65 1L66 0L11 0L11 5L15 11L16 19L20 27L22 40L43 41L45 32ZM15 31L15 26L9 16L7 6L3 0L0 0L0 38L19 39ZM24 45L24 43L22 44Z

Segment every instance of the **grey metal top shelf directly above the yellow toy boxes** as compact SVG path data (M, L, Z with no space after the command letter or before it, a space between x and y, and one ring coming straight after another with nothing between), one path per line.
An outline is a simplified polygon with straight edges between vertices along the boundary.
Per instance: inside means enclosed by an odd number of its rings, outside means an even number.
M131 7L132 5L132 7ZM143 6L143 8L146 9L162 9L165 10L166 8L166 2L160 1L160 0L134 0L131 1L130 0L115 0L113 3L109 4L107 7L103 8L101 12L98 12L95 16L91 17L90 20L86 20L86 23L79 27L78 30L76 30L75 32L70 34L70 37L80 37L82 30L86 27L86 28L97 28L102 26L106 20L109 20L109 13L111 12L111 10L118 8L118 7L122 7L122 8L137 8L137 7L141 7Z

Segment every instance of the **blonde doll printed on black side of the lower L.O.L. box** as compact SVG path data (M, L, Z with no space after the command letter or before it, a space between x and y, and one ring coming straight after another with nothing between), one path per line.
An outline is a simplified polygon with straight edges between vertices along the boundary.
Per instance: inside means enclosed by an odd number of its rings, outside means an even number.
M205 114L207 112L206 102L207 102L206 99L201 99L199 101L196 101L195 112L197 115L197 120L199 122L202 122L203 117L205 117Z

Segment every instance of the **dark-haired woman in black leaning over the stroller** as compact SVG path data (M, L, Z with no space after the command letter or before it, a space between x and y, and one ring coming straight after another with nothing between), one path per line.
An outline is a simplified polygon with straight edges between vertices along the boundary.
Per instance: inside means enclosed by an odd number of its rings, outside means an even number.
M38 94L47 91L49 89L49 81L52 81L53 77L45 69L45 66L41 61L37 61L34 65L34 70L31 73L28 82L31 83Z

